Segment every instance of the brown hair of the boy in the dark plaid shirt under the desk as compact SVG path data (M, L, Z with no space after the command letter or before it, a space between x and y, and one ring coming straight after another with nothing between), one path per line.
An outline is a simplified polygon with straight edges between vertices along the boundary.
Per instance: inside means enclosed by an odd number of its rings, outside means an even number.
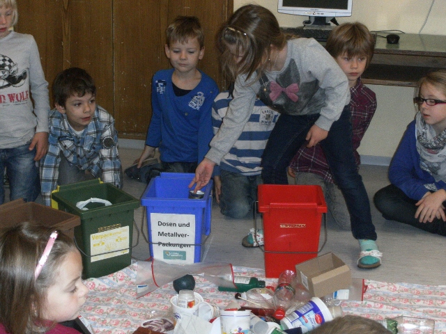
M360 22L344 23L333 28L325 49L333 58L343 54L347 54L348 57L366 56L367 68L374 56L375 38L367 26Z

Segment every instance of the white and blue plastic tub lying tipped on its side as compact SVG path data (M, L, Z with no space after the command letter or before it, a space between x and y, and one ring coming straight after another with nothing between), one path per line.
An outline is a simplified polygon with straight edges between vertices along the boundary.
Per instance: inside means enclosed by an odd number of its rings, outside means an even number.
M302 333L308 333L321 324L343 315L340 306L328 307L321 299L313 297L301 308L284 317L280 321L280 325L284 329L302 328Z

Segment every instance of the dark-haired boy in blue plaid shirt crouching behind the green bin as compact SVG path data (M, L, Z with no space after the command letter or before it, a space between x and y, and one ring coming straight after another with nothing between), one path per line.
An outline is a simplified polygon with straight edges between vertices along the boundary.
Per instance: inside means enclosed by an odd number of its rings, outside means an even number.
M49 114L49 150L40 161L45 204L62 184L100 177L122 188L118 132L113 117L96 105L93 78L71 67L57 74L52 90L56 109Z

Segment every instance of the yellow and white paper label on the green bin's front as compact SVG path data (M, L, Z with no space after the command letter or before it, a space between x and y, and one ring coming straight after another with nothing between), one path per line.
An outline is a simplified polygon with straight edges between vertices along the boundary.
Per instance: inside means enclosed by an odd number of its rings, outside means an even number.
M129 253L129 227L90 234L91 262Z

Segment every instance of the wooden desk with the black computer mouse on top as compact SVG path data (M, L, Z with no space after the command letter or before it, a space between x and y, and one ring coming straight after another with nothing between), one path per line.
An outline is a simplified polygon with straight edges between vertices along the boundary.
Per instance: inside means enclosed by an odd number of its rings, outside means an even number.
M375 54L362 74L364 84L415 87L427 72L446 68L446 36L401 33L398 44L376 37Z

